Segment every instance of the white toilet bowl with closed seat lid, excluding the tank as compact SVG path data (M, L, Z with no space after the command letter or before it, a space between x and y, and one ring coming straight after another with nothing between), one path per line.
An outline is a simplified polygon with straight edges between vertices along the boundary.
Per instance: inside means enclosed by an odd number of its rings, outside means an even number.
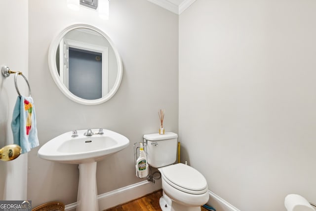
M196 169L175 164L158 169L161 173L163 211L200 211L209 199L204 176ZM171 201L170 201L171 200Z

